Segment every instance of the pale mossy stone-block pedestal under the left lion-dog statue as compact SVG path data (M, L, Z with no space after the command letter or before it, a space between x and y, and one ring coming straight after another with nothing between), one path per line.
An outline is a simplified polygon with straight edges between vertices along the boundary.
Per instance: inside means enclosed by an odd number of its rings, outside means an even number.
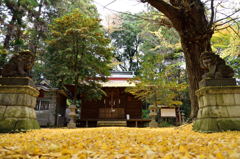
M7 79L9 81L21 80L20 78L4 78L4 81ZM18 132L39 128L34 110L38 95L38 90L29 85L1 84L0 132Z

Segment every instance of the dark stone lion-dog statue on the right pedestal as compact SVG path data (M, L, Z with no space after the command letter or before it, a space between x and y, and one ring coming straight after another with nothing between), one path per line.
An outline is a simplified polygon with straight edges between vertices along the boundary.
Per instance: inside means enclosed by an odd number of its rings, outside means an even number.
M201 67L205 70L203 79L232 78L234 71L225 61L212 52L205 51L200 56Z

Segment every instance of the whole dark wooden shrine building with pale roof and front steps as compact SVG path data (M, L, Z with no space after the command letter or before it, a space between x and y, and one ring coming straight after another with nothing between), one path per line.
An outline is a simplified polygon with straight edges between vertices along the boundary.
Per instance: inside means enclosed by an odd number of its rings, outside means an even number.
M106 96L101 100L82 99L77 126L146 126L150 120L142 119L142 101L125 91L135 86L128 81L133 77L133 72L112 72L108 81L101 83Z

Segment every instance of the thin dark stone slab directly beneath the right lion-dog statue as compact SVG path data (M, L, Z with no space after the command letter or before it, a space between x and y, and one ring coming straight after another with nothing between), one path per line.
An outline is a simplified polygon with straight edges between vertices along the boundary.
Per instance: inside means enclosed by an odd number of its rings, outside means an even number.
M199 88L207 86L236 86L235 78L203 79L199 82Z

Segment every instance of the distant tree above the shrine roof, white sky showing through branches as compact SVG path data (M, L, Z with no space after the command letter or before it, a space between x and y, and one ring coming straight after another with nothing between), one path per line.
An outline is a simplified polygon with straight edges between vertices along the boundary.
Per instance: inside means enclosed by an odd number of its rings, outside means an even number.
M139 47L142 43L140 37L141 20L128 14L119 15L120 26L110 33L115 58L121 62L119 65L123 71L137 71L139 69Z

